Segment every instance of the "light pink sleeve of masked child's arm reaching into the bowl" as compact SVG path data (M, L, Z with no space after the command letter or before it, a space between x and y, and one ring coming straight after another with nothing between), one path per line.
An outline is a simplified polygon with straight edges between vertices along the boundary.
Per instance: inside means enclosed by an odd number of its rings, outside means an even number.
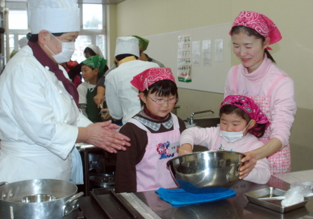
M206 146L209 150L214 146L218 133L218 127L210 128L197 128L192 127L185 129L181 133L181 138L179 140L179 145L182 144L192 144L192 146L200 145Z

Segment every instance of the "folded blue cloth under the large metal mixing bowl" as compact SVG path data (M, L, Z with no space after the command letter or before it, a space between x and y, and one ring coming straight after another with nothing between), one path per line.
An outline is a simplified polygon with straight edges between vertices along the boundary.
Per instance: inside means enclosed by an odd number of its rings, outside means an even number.
M217 201L223 198L229 198L236 194L235 190L227 190L225 192L213 192L205 194L194 194L186 192L183 189L167 190L159 188L155 191L160 198L172 205L189 205L196 203L206 203L209 201Z

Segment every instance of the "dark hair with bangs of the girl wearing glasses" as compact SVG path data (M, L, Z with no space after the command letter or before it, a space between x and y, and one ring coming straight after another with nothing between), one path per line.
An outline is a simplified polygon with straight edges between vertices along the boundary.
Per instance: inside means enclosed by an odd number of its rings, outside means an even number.
M167 79L152 83L152 85L150 85L148 89L143 90L143 94L145 94L145 96L148 96L149 91L150 91L150 94L156 93L156 95L158 96L170 96L170 94L172 94L172 95L175 95L176 98L178 98L178 91L177 91L176 83L174 81L167 80ZM140 104L141 106L145 105L145 103L143 103L141 99L140 99Z

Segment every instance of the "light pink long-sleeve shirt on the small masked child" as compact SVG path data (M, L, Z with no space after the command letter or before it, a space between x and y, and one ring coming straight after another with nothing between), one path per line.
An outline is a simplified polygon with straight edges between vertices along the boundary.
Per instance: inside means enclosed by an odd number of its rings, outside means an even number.
M185 129L181 133L181 138L179 144L192 144L192 146L200 145L205 146L209 150L216 150L217 141L220 140L220 127L210 127L210 128L189 128ZM244 153L247 151L252 151L254 149L263 146L257 137L247 133L244 138L237 140L236 142L229 143L224 138L220 140L220 145L218 149L224 151L236 151ZM266 158L259 159L255 168L249 173L247 177L244 178L246 181L251 181L253 183L265 184L270 179L270 166L268 165L268 160Z

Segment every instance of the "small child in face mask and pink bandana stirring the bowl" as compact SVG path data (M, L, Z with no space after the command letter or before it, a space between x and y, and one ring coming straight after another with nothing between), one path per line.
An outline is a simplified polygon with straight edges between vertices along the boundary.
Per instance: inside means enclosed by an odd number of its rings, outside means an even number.
M186 129L181 134L178 153L192 153L194 144L206 146L211 151L252 151L264 145L258 138L264 135L269 125L269 120L252 99L230 95L220 105L220 127ZM269 179L270 167L266 158L259 159L244 178L259 184L265 184Z

